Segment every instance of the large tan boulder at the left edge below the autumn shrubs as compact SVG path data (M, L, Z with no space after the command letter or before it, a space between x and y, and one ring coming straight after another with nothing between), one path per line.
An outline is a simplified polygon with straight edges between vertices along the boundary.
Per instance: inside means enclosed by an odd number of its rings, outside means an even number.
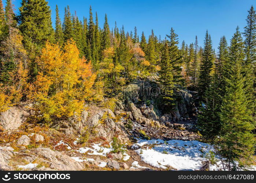
M0 126L2 126L4 130L15 130L26 120L27 115L29 115L29 113L26 109L12 107L0 113Z

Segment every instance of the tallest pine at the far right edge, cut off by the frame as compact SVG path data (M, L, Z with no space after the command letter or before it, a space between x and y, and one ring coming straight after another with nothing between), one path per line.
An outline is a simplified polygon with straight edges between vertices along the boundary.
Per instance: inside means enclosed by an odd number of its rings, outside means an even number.
M256 110L256 13L253 8L248 11L247 25L244 28L245 36L245 60L242 63L242 74L245 76L245 95L248 100L248 108L255 114ZM254 70L253 70L254 68ZM253 88L254 85L254 88Z

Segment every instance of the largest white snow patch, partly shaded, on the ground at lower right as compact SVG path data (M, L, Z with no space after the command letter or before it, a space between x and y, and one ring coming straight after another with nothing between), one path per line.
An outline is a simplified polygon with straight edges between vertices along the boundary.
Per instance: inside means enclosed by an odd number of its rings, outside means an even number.
M199 141L164 142L160 139L149 141L139 139L136 144L146 146L146 149L135 151L142 161L164 169L171 166L177 170L198 170L202 166L201 161L205 160L204 155L214 151L213 146Z

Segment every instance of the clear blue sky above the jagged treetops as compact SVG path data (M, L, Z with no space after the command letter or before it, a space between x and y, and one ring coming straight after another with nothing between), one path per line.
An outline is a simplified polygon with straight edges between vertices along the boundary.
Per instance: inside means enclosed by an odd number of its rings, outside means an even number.
M4 1L4 0L3 0ZM213 40L214 48L218 47L219 39L225 35L231 39L235 28L243 31L246 25L248 10L255 0L48 0L52 10L52 21L55 22L55 5L59 6L63 19L64 7L70 6L71 13L77 12L80 19L89 16L89 6L92 5L93 14L97 11L100 27L103 27L104 15L107 13L110 27L115 21L118 27L125 26L131 31L134 26L141 36L144 31L148 37L151 29L155 35L162 38L170 33L171 27L179 36L179 43L183 40L187 44L194 42L197 35L199 44L203 46L205 31L208 29ZM16 13L21 0L14 0Z

